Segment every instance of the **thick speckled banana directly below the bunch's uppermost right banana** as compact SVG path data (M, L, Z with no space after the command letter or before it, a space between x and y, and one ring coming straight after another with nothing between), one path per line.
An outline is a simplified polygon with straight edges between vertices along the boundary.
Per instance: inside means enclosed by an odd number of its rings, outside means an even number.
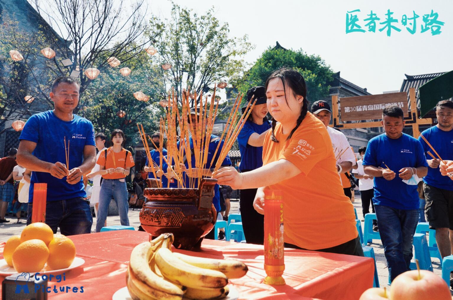
M154 260L167 279L187 287L222 288L228 283L222 272L189 265L164 246L157 250Z

